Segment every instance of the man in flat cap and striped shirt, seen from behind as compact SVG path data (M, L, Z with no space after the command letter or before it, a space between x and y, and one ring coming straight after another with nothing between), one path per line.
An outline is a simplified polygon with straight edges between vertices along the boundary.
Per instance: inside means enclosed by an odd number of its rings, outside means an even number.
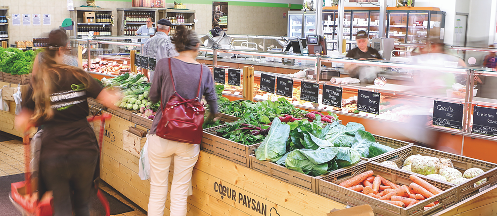
M175 57L178 56L176 48L171 42L169 37L169 31L171 30L172 24L169 20L160 19L157 22L157 32L153 37L151 37L142 48L142 55L146 57L152 57L156 62L162 58ZM154 71L148 73L147 70L143 69L143 74L146 75L150 81L152 81Z

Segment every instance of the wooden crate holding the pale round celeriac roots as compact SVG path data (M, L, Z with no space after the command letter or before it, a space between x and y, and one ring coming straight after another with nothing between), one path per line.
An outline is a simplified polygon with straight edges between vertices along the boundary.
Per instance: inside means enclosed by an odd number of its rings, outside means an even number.
M404 160L408 158L411 155L415 154L420 154L420 155L425 155L425 156L432 156L432 157L442 157L442 158L448 158L452 161L454 168L458 169L461 171L462 174L464 174L464 171L469 168L480 168L483 169L484 173L481 174L480 176L473 178L469 181L466 181L465 183L458 185L457 186L457 195L458 195L458 201L466 199L476 193L479 192L481 188L484 187L489 187L492 185L497 184L497 164L495 163L490 163L478 159L473 159L461 155L456 155L456 154L451 154L451 153L446 153L434 149L429 149L421 146L415 146L412 145L407 148L402 148L398 149L393 152L389 152L387 154L379 155L377 157L371 158L372 161L381 163L386 160L393 161L397 163L397 166L401 168L403 166ZM413 172L414 173L414 172ZM418 175L422 176L422 175ZM474 186L474 183L478 182L479 180L485 179L486 182L483 184L480 184L478 186ZM483 190L482 190L483 191Z

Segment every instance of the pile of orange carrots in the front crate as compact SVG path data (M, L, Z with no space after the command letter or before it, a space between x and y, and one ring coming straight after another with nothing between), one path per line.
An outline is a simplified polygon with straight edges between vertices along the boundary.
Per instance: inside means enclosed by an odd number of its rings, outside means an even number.
M421 200L443 192L415 175L411 175L409 178L413 183L409 186L399 186L380 175L374 177L373 171L370 170L350 178L339 185L403 208L410 207ZM438 201L432 202L426 205L425 209L437 203Z

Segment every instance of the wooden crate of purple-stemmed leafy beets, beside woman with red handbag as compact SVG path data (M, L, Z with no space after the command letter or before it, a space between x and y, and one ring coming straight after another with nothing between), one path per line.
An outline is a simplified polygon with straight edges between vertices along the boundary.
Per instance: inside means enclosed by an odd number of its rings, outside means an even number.
M219 125L204 129L200 148L208 153L251 168L250 154L259 147L260 143L247 146L212 134L215 133L217 129L225 126L226 125Z

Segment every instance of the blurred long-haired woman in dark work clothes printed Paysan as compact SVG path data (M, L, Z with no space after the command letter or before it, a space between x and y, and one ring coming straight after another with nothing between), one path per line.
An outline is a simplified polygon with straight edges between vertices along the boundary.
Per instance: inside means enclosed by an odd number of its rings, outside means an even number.
M64 65L61 48L67 41L65 31L50 32L49 47L42 55L39 70L33 73L27 101L15 123L22 130L28 125L44 125L40 136L38 198L53 191L55 216L87 216L93 182L99 176L99 148L86 120L86 98L93 97L114 107L118 96L102 90L86 71Z

